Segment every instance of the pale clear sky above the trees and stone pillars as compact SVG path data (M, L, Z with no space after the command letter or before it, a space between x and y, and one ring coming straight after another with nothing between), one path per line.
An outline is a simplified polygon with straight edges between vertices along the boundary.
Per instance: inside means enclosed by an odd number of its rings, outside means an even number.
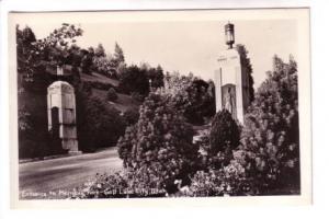
M134 12L133 12L134 13ZM93 13L98 14L98 13ZM103 45L106 53L114 51L115 42L123 48L128 64L148 62L160 65L164 71L193 72L207 80L214 78L217 68L216 59L220 50L226 49L224 25L228 20L211 21L175 21L166 20L155 22L150 19L140 20L129 14L128 20L106 16L63 16L53 13L19 14L15 23L21 27L32 27L37 38L47 36L61 23L79 23L84 31L83 36L77 38L81 47ZM41 19L42 18L42 19ZM234 16L232 16L234 18ZM256 88L264 80L265 72L272 69L274 54L284 60L290 54L296 57L297 30L295 20L235 20L236 43L243 44L249 51L253 68Z

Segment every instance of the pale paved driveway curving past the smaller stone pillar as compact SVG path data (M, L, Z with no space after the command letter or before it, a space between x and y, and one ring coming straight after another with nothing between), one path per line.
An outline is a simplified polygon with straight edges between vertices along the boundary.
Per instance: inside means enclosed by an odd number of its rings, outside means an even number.
M70 189L97 173L122 169L116 149L20 164L20 192L48 193Z

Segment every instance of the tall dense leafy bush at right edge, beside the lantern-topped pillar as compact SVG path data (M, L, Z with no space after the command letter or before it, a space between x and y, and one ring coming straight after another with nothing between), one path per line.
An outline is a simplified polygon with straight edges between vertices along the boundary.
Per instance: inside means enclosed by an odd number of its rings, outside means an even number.
M276 56L246 114L235 159L261 194L299 193L297 65Z

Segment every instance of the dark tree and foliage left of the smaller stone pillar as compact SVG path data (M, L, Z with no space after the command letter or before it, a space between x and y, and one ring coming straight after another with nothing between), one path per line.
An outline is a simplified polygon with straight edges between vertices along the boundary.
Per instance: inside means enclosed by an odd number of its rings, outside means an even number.
M16 26L20 158L61 152L49 145L46 92L54 80L46 70L68 60L70 45L81 34L82 30L63 24L47 37L36 39L29 26L23 30Z

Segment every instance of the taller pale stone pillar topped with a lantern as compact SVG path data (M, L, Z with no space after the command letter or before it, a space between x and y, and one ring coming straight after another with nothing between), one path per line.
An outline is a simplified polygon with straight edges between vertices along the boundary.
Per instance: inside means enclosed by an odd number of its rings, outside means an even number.
M225 25L227 50L222 50L215 70L216 112L226 108L232 118L243 124L243 115L250 103L249 76L241 62L239 51L234 47L235 26Z

